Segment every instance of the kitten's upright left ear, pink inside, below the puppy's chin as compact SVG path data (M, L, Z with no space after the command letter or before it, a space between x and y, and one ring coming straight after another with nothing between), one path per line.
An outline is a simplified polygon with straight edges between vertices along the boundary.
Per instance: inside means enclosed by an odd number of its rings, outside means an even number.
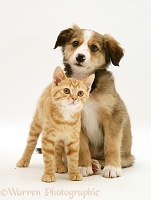
M66 77L64 71L61 69L61 67L56 67L56 69L53 73L53 84L55 86L58 86L66 78L67 77Z

